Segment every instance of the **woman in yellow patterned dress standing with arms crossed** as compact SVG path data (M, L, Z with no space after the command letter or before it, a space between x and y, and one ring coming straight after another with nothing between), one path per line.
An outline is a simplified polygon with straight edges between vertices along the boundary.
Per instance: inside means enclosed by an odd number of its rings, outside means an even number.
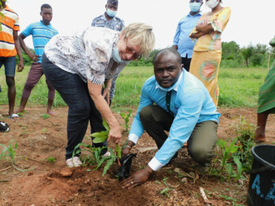
M197 38L190 65L195 75L208 89L214 104L218 104L218 73L221 62L221 33L227 25L231 9L221 6L221 0L206 0L212 11L203 14L190 38Z

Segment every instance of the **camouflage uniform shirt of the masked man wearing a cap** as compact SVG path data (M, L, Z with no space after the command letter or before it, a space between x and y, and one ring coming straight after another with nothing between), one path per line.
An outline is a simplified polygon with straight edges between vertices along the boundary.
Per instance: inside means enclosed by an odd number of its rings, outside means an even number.
M93 22L91 23L93 27L107 27L111 30L115 30L120 32L124 28L124 21L116 16L110 21L107 21L105 14L96 17Z

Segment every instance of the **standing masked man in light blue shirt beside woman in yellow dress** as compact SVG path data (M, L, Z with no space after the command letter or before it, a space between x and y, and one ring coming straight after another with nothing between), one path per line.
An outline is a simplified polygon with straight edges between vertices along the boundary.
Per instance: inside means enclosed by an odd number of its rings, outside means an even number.
M174 36L173 48L177 49L181 55L181 63L186 71L189 71L193 48L196 43L192 41L189 34L201 18L200 8L202 4L202 0L190 0L190 12L179 21Z

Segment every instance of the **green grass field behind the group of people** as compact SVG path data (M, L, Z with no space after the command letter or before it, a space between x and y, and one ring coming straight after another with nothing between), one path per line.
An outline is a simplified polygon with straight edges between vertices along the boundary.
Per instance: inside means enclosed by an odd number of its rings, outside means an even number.
M23 72L16 73L17 98L16 108L19 106L21 94L30 67ZM219 71L219 106L223 107L254 107L257 104L259 87L264 81L267 69L223 69ZM115 98L112 108L124 110L124 106L137 106L140 91L145 80L153 76L152 67L126 67L116 82ZM7 86L3 67L0 70L0 104L8 104ZM47 104L47 85L45 77L33 89L28 106ZM56 93L54 106L65 106L60 95Z

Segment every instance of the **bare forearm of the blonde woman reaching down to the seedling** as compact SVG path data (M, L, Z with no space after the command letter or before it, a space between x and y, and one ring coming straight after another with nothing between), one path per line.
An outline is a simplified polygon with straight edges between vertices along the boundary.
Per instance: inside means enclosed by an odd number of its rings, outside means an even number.
M115 119L115 116L113 116L111 108L101 95L102 85L94 84L88 80L88 89L96 108L110 126L110 133L107 141L113 139L115 143L118 143L121 138L120 124L118 120Z

